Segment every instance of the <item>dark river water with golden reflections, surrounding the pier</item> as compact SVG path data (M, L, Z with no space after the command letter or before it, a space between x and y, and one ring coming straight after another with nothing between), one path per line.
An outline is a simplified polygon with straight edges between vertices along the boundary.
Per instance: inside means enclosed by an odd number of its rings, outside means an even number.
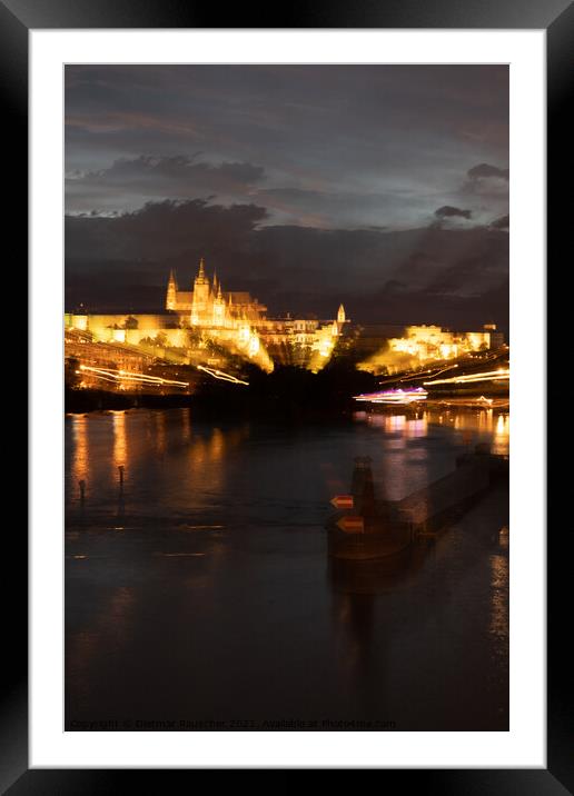
M507 414L132 409L65 437L67 729L507 729L507 488L403 570L334 567L325 530L354 457L398 499L507 454Z

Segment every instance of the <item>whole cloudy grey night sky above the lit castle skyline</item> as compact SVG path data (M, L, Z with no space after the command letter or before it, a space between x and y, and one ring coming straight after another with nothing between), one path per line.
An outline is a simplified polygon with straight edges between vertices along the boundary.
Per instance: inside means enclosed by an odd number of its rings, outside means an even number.
M67 67L66 211L67 309L202 256L269 316L507 328L508 70Z

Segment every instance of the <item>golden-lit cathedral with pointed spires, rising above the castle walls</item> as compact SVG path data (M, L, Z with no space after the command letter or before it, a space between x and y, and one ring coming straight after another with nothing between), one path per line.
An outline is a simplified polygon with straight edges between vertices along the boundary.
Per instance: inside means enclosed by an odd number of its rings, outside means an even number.
M267 311L248 292L224 291L215 273L210 281L202 258L191 290L179 290L176 275L170 271L166 309L177 312L182 324L206 328L232 328L239 320L257 325Z

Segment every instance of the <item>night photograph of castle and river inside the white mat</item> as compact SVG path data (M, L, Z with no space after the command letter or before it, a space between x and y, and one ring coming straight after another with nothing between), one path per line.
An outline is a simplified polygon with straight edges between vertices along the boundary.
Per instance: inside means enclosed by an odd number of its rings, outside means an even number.
M508 66L63 77L66 729L508 730Z

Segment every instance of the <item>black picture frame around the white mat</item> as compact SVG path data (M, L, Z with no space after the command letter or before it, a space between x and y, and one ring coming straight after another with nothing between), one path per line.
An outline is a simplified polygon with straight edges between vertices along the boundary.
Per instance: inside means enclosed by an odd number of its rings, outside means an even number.
M11 268L26 273L28 209L28 33L31 29L87 28L220 28L221 11L209 3L186 0L0 0L0 86L4 125L4 153L13 179L4 183L9 195L10 235L18 230ZM250 3L226 7L226 28L435 28L435 29L545 29L547 37L547 216L548 261L564 257L570 246L561 235L568 229L561 187L570 180L567 152L572 125L567 122L567 93L572 86L574 4L570 0L388 0L281 4ZM6 173L6 171L4 171ZM9 187L8 187L9 186ZM568 186L570 187L570 186ZM567 196L567 193L565 193ZM22 262L22 265L20 265ZM26 287L23 288L26 290ZM19 288L22 290L22 287ZM23 295L23 293L20 293ZM548 335L560 334L560 320ZM550 362L548 362L550 367ZM553 481L558 494L560 476ZM548 501L551 505L551 501ZM23 794L103 794L140 787L142 793L169 792L174 776L187 770L135 769L29 769L28 768L28 557L22 524L9 523L4 534L4 611L14 619L7 637L2 702L0 706L0 790ZM567 530L567 528L564 528ZM18 531L18 533L17 533ZM536 794L558 796L574 793L574 744L571 717L572 664L566 651L570 557L564 540L548 537L547 544L547 768L525 769L383 769L388 785L407 785L426 794ZM567 544L567 540L566 540ZM8 633L6 631L8 636ZM397 775L402 782L396 782ZM141 784L133 777L145 777ZM162 777L161 780L159 777ZM166 782L165 777L168 777ZM405 782L405 777L408 780ZM129 782L128 782L129 780ZM392 782L395 780L395 782Z

